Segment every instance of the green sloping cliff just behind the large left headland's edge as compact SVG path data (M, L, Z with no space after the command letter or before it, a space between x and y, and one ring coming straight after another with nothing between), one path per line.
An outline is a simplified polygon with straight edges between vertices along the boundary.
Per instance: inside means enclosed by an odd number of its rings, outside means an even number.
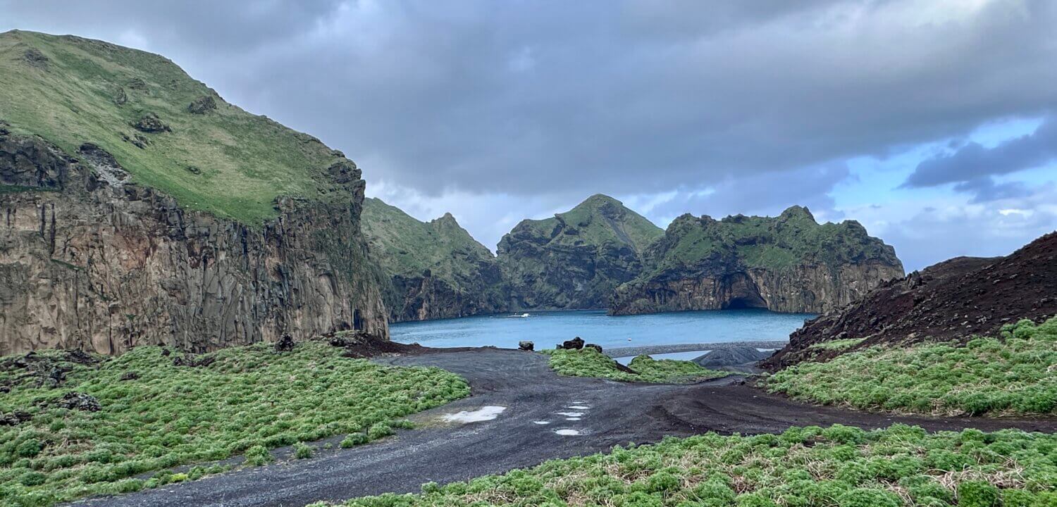
M371 259L390 283L383 293L390 318L445 319L506 309L506 284L488 249L446 213L420 222L377 199L364 201Z

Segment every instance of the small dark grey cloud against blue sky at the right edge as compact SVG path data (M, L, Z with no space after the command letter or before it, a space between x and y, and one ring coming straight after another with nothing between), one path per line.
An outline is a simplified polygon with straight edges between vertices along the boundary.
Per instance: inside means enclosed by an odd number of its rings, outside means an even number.
M959 183L957 190L977 191L984 195L1014 190L1009 185L997 188L989 177L1043 166L1057 159L1057 121L1047 117L1035 132L985 148L969 143L949 154L923 161L907 177L904 187L932 187Z

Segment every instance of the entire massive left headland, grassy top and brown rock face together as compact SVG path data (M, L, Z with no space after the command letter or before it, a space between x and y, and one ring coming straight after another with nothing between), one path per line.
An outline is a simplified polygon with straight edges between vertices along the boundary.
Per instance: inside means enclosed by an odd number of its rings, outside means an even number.
M0 354L387 336L364 182L171 61L0 34Z

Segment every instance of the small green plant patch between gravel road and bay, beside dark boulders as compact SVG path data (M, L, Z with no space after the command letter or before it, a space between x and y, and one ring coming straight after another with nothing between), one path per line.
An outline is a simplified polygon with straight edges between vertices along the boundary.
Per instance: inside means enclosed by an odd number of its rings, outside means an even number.
M571 377L597 377L626 382L683 383L727 375L726 372L708 370L691 361L653 359L650 356L637 356L632 359L628 368L635 373L628 373L617 368L616 361L591 348L542 352L551 356L551 369L559 375Z

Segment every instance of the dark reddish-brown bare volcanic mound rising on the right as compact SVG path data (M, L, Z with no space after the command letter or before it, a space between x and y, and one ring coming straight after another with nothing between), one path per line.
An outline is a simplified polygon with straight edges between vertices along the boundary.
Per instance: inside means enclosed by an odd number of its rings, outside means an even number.
M1020 319L1057 314L1057 232L1006 257L959 257L875 288L864 298L808 321L790 344L761 363L780 370L840 354L815 354L815 343L866 338L852 350L877 343L967 340L994 334ZM847 351L845 351L847 352Z

